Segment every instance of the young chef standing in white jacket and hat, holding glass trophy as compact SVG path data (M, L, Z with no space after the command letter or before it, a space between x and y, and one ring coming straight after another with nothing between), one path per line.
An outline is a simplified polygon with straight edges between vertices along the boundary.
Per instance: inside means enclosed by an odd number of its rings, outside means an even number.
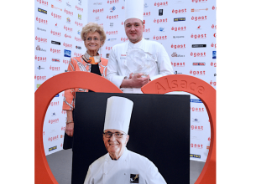
M129 41L112 47L107 63L108 80L123 90L123 93L141 94L141 87L149 83L149 79L153 80L168 74L174 74L169 55L164 46L143 38L144 0L125 1L124 29ZM127 78L123 63L126 60L128 49L143 49L144 52L152 54L157 64L154 72L147 77L142 77L143 74L130 74Z

